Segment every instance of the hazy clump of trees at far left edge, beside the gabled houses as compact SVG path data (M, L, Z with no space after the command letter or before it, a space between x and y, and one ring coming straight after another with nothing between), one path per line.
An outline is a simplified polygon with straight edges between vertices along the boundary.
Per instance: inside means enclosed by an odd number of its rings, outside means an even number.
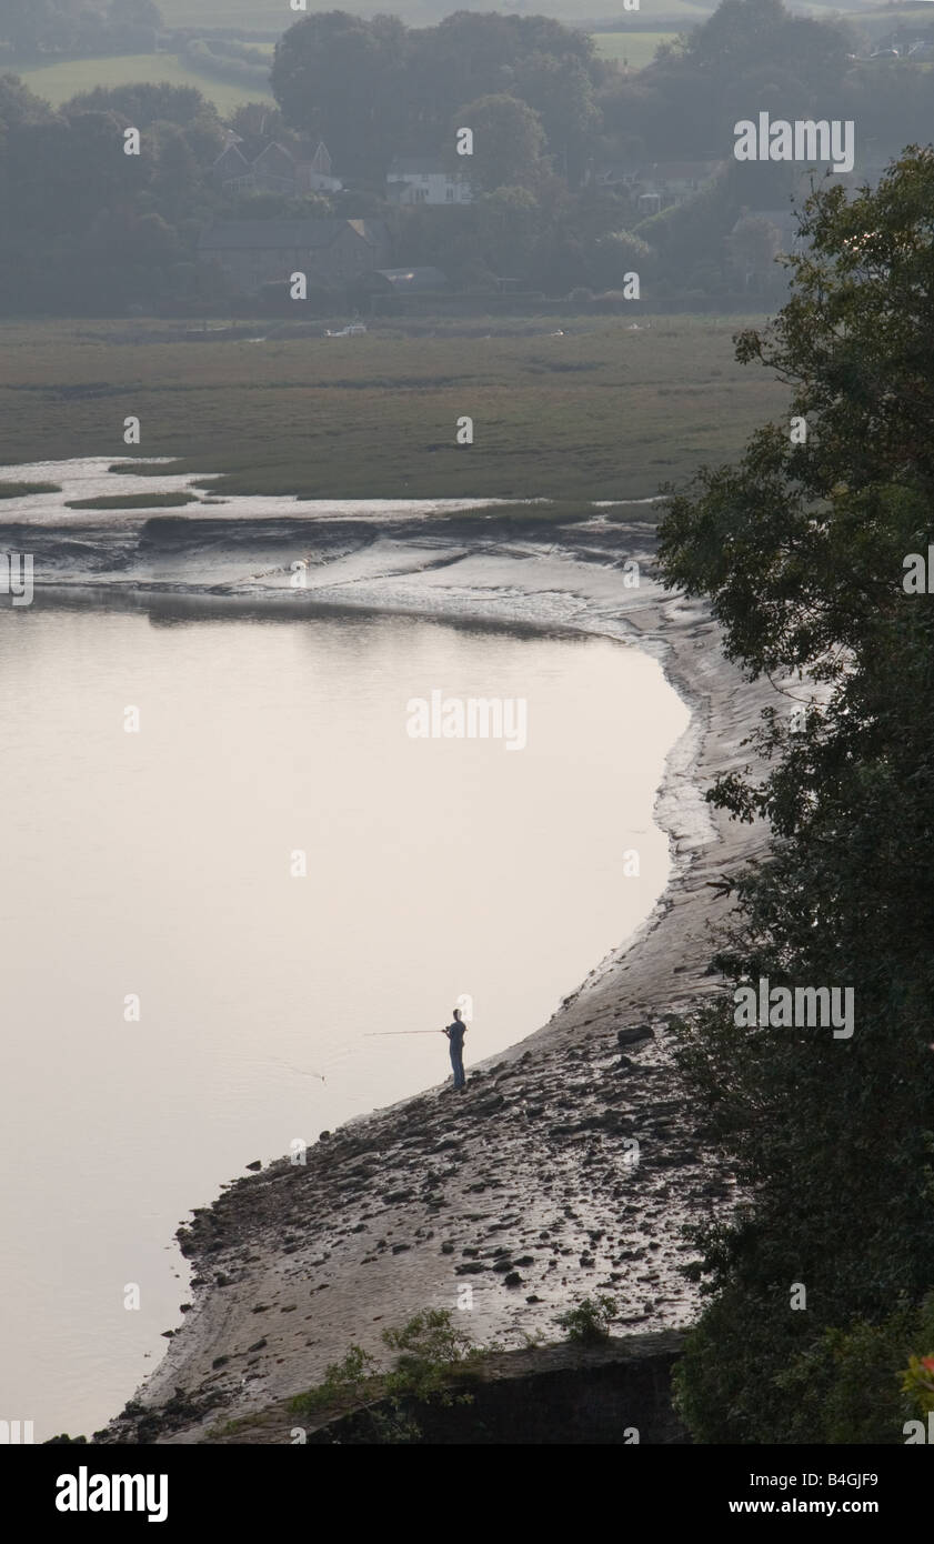
M139 156L124 130L142 131ZM8 313L120 310L179 289L179 264L215 198L205 171L222 147L201 93L93 91L54 113L0 77L0 295Z

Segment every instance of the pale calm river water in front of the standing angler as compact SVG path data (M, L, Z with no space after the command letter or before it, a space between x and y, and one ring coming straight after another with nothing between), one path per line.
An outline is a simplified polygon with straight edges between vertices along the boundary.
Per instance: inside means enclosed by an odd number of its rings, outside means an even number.
M154 1366L188 1209L440 1084L395 1031L469 994L469 1073L639 925L689 715L601 638L42 596L0 608L0 1417L43 1441ZM525 735L414 738L432 693Z

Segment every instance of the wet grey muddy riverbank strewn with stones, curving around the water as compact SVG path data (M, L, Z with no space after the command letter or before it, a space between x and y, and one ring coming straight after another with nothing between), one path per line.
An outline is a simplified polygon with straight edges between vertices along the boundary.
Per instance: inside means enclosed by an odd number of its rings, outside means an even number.
M199 525L122 523L110 567L107 522L93 537L71 528L56 587L83 602L93 564L97 602L154 613L360 605L599 631L653 653L692 724L659 791L675 866L648 922L548 1024L471 1068L463 1095L445 1084L323 1133L304 1163L266 1163L195 1214L179 1232L190 1311L100 1437L212 1441L222 1422L318 1382L350 1343L378 1353L381 1331L418 1309L457 1311L465 1286L459 1322L479 1343L554 1339L556 1315L597 1291L619 1305L618 1332L684 1328L698 1308L679 1269L692 1258L684 1226L729 1209L735 1190L678 1092L667 1025L718 988L716 882L764 841L702 800L718 772L746 763L761 689L726 662L699 604L661 590L651 525L619 511L567 528L411 511L236 520L210 530L210 585Z

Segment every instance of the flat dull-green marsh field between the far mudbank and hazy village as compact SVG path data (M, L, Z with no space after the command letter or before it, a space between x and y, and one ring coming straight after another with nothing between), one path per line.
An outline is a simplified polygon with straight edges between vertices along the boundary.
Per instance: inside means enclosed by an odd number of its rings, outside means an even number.
M269 324L266 324L269 326ZM179 455L221 491L309 497L645 497L783 412L741 369L741 318L562 318L563 337L184 341L161 323L0 326L0 463ZM256 324L259 332L262 324ZM505 329L503 329L505 330ZM474 443L455 445L457 418Z

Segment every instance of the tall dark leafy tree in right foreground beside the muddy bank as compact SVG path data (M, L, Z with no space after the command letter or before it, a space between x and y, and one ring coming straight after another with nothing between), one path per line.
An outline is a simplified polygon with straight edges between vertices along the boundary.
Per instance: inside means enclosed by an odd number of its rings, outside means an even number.
M752 740L766 775L707 795L772 831L715 963L849 987L857 1008L844 1039L736 1025L729 991L682 1025L687 1085L749 1195L701 1232L713 1300L679 1373L699 1441L821 1441L821 1400L840 1417L848 1397L824 1337L934 1282L934 607L903 587L931 540L932 207L917 148L874 191L807 201L792 298L736 347L789 384L789 423L673 493L661 525L665 582L709 596L727 655L781 689Z

